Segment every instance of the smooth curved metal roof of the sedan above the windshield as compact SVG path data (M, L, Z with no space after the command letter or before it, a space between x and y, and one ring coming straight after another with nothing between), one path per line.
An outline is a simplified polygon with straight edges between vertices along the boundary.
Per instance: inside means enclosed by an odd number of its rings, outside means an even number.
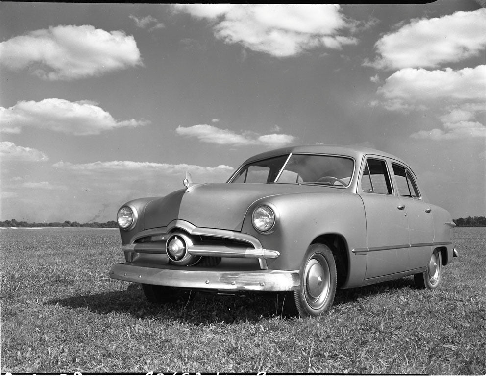
M245 163L255 162L261 159L266 159L270 157L275 157L279 155L287 155L290 153L305 153L305 154L333 154L333 155L345 155L348 157L352 157L358 161L361 161L364 155L379 155L382 157L388 157L394 159L396 161L405 163L405 161L388 154L384 151L375 150L369 147L362 146L345 146L338 144L315 144L311 146L290 146L290 147L281 147L275 150L270 150L263 152L261 154L254 155L248 158ZM244 163L244 164L245 164Z

